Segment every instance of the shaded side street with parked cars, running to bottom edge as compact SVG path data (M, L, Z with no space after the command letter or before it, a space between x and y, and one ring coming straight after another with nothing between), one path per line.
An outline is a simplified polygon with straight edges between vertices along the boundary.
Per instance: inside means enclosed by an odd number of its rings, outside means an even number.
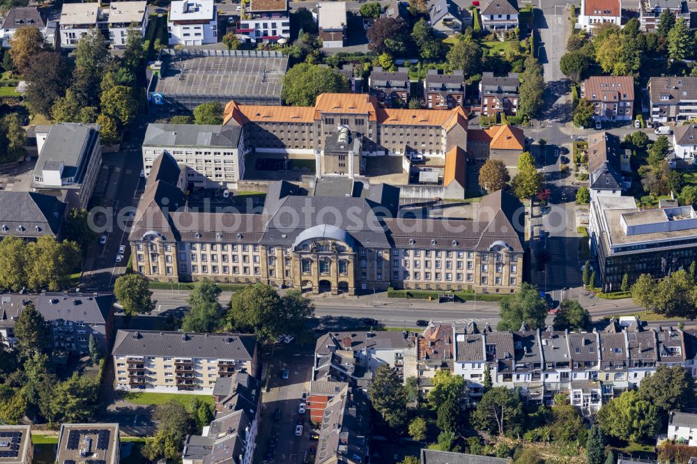
M302 392L309 391L312 376L312 346L298 346L296 343L281 344L275 348L273 359L269 360L271 372L270 391L263 393L263 409L256 437L255 463L304 463L309 448L317 442L310 440L312 424L309 412L298 414ZM282 378L282 371L288 369L288 379ZM275 419L275 411L280 417ZM302 424L302 435L296 436L296 426ZM277 440L273 456L265 460L271 435ZM306 455L307 453L307 455Z

